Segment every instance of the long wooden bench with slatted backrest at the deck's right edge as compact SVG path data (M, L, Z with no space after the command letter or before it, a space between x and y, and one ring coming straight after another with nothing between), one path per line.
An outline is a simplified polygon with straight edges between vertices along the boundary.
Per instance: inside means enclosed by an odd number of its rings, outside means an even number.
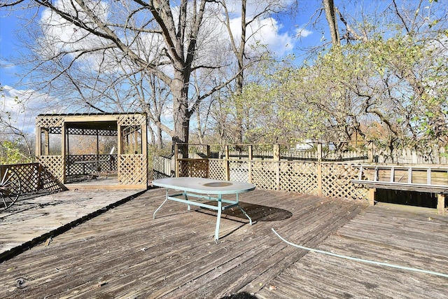
M377 188L437 193L437 214L445 214L448 194L448 167L353 165L359 167L358 179L351 183L369 188L369 203L374 205Z

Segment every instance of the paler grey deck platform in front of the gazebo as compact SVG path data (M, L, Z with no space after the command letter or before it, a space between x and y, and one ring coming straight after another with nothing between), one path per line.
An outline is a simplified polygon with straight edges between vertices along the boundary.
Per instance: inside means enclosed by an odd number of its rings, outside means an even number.
M90 190L66 191L20 199L8 210L0 211L0 260L15 247L38 242L73 221L97 213L141 191ZM106 194L106 195L105 195Z

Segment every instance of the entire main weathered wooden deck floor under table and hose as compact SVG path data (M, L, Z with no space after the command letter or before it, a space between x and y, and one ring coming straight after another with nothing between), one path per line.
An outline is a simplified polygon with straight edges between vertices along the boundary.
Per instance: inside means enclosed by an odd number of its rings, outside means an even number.
M106 194L105 194L106 195ZM448 273L435 209L255 190L239 210L186 210L148 190L0 264L1 298L448 298L448 278L367 265L282 242ZM246 296L244 296L246 292ZM252 295L251 295L252 294Z

